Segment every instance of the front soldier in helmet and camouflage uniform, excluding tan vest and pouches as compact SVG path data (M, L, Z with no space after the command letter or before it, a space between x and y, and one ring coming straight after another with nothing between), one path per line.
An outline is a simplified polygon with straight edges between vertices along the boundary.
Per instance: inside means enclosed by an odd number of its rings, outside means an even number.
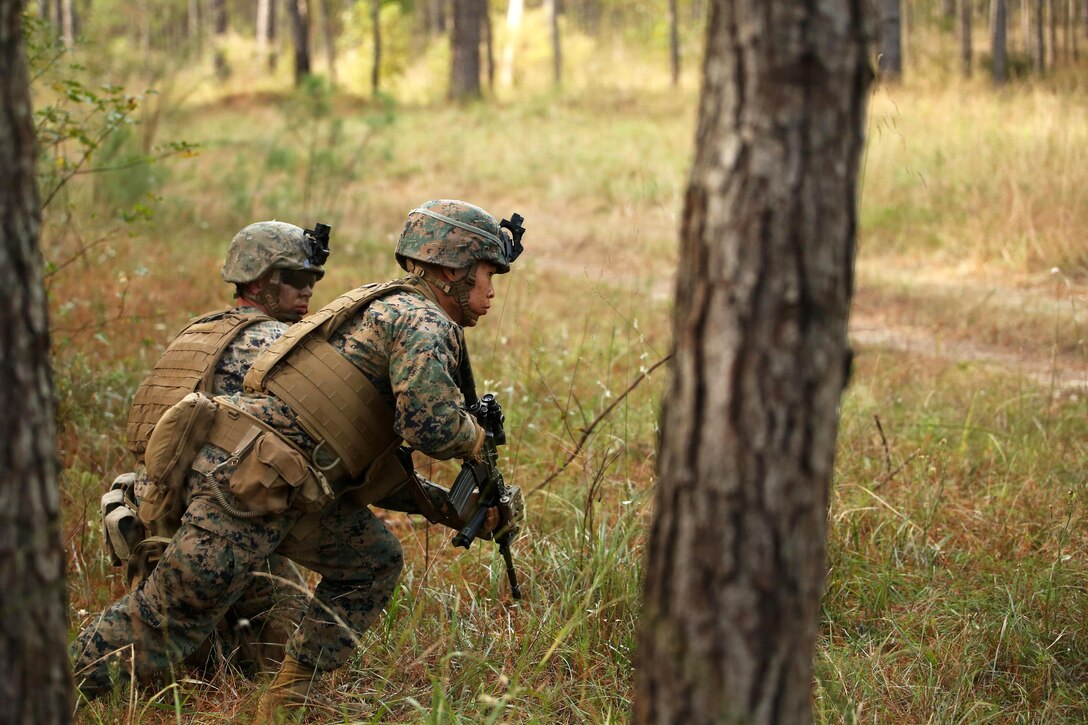
M391 438L440 459L471 459L479 454L484 431L466 410L462 393L462 386L471 384L463 379L462 327L475 324L487 312L494 296L492 275L508 271L519 253L520 243L511 245L494 217L482 209L462 201L431 201L409 213L397 244L397 259L409 275L383 285L376 298L368 296L375 292L368 292L370 285L344 295L354 294L363 303L346 308L348 316L332 329L327 344L356 374L362 373L387 406ZM337 304L310 319L322 318ZM277 347L289 336L255 362L247 388L265 358L277 361L282 352ZM262 717L279 705L305 702L318 675L348 661L358 635L388 602L403 566L400 544L360 503L372 496L356 495L368 493L362 477L345 481L334 476L350 451L341 450L342 455L335 456L324 446L330 438L317 443L312 418L309 425L300 421L296 407L281 400L285 394L238 394L217 403L221 411L233 410L235 418L252 416L273 431L271 435L289 441L317 470L329 474L335 497L310 513L295 505L265 515L239 511L243 506L230 501L227 492L246 482L239 481L239 471L249 453L203 445L187 477L182 526L151 577L103 612L76 641L76 681L85 692L109 687L109 655L128 646L135 644L139 678L166 671L185 658L208 637L272 553L322 578L287 641L284 665L262 699ZM421 487L423 497L411 496L405 479L401 470L397 488L385 491L378 505L460 525L444 518L448 509L442 490Z

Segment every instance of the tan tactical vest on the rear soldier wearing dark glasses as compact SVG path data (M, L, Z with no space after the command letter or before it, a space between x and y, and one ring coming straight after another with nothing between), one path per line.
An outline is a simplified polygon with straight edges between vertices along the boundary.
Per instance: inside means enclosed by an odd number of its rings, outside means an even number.
M136 389L126 429L127 446L133 455L144 457L151 429L169 407L195 391L212 394L215 367L226 347L244 329L271 320L268 315L234 310L189 320Z

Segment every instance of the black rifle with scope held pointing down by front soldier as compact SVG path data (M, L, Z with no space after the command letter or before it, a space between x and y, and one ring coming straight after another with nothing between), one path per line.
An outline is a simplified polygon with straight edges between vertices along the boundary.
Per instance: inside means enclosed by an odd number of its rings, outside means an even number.
M506 444L506 431L503 429L505 418L503 408L492 393L485 394L475 403L469 406L469 413L483 427L486 435L483 442L482 460L466 462L461 466L460 474L449 489L449 503L457 512L460 520L468 519L468 524L454 537L455 546L468 549L472 545L480 527L483 526L487 517L487 509L497 506L499 512L499 525L494 531L493 538L498 544L498 551L506 562L506 576L510 581L510 595L514 599L521 599L521 589L518 587L518 575L514 569L514 556L510 553L510 543L518 534L519 523L523 517L521 508L521 496L516 495L516 487L507 488L503 480L503 474L498 470L497 446ZM478 491L475 499L475 511L471 516L467 516L471 501L471 494Z

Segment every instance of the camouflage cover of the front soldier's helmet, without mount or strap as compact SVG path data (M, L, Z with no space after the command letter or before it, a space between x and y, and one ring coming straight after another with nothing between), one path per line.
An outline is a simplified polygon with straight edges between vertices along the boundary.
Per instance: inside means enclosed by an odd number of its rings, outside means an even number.
M446 217L455 223L431 214ZM397 242L397 261L406 271L410 271L408 259L450 269L490 261L499 273L505 273L510 271L510 265L502 239L503 231L498 222L480 207L454 199L437 199L408 213L408 221Z

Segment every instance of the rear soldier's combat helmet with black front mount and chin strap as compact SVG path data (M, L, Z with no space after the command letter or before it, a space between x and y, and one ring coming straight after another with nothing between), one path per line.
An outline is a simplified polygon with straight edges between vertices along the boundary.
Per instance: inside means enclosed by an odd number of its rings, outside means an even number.
M271 271L268 282L261 285L257 302L277 320L297 321L300 317L297 312L280 308L281 272L310 272L314 275L313 282L323 278L322 265L329 258L329 230L325 224L304 230L280 221L249 224L231 241L220 274L226 282L244 285ZM240 287L236 294L240 296Z

